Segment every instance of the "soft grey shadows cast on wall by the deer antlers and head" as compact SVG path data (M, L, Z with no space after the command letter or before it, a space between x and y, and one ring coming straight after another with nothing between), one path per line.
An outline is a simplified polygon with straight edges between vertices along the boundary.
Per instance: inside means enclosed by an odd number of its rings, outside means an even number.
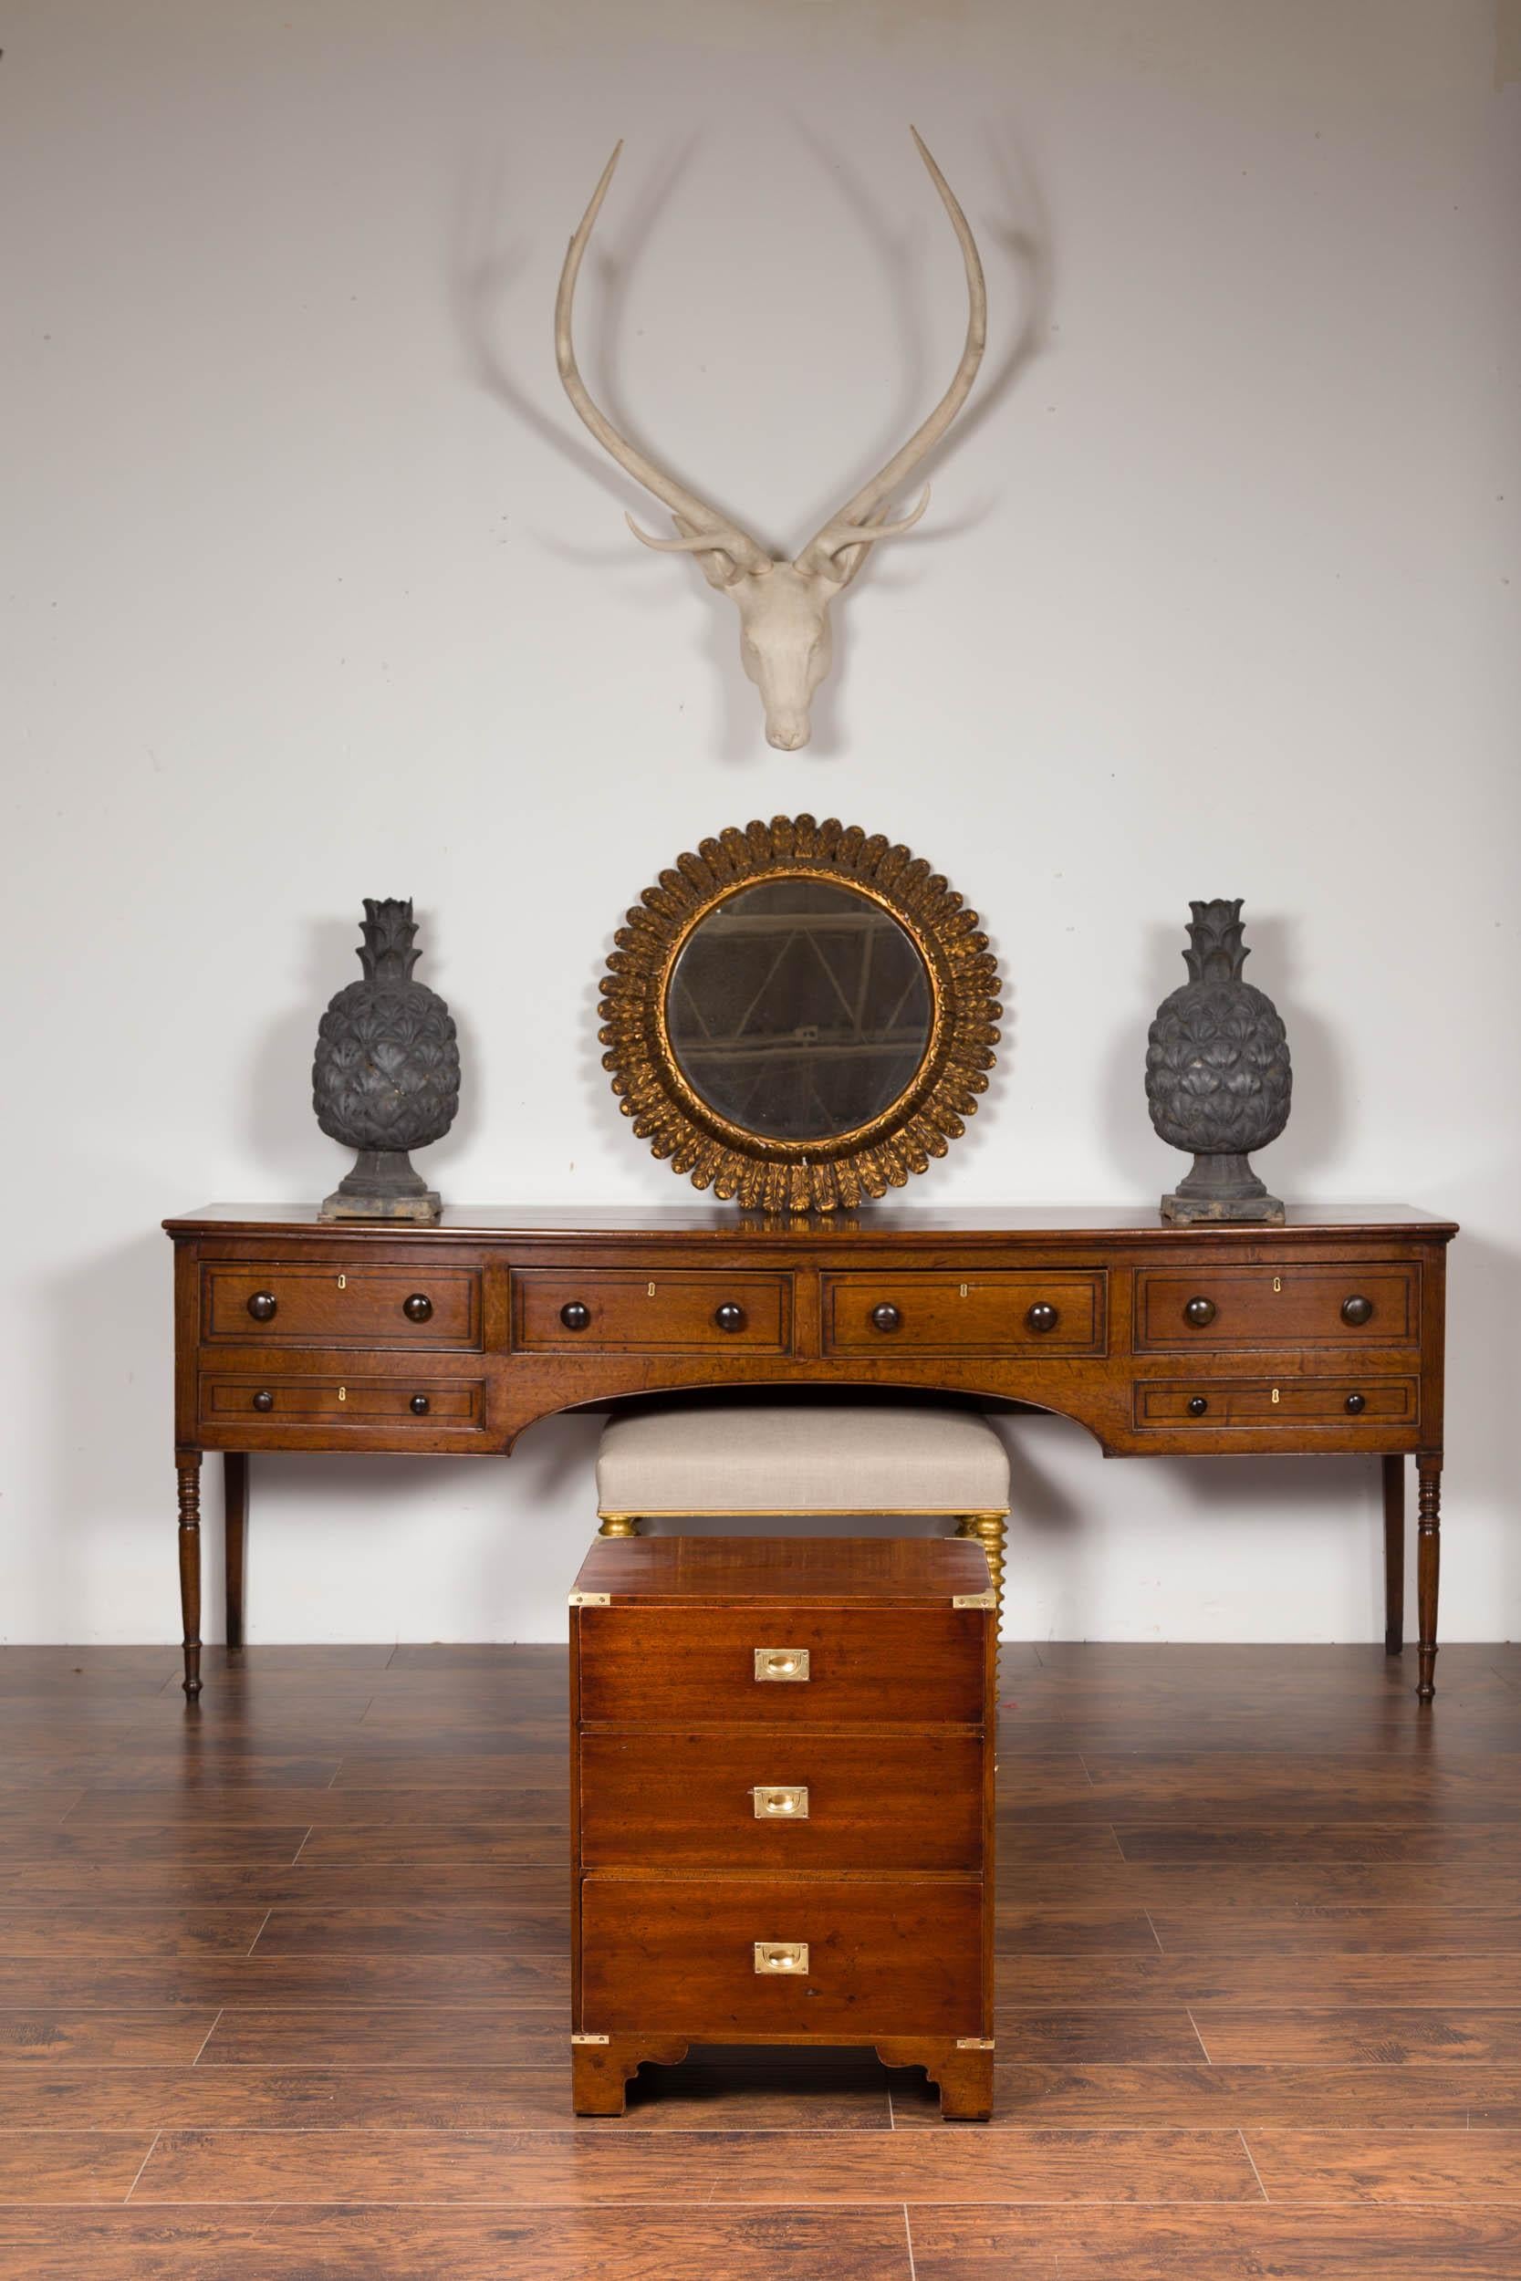
M639 433L639 422L632 417L625 404L623 383L618 379L618 347L625 324L625 306L629 294L629 283L636 274L639 258L648 246L659 214L668 205L673 192L680 185L682 173L691 162L696 139L689 139L677 151L673 151L659 167L645 178L645 185L636 192L632 210L623 214L620 242L629 246L629 253L604 251L593 242L591 271L597 285L593 297L593 315L584 315L586 347L577 340L577 356L581 370L588 376L593 395L602 401L613 427L639 445L645 456L654 458L657 465L668 468L682 484L693 488L700 497L711 500L723 513L734 516L741 527L757 529L762 543L768 545L778 559L787 559L791 545L803 545L807 531L825 520L839 502L848 500L887 458L908 440L919 420L926 417L935 404L935 388L944 388L953 365L944 358L944 376L940 376L940 363L930 372L930 351L926 347L926 326L917 319L917 310L924 294L917 290L917 276L926 274L928 265L942 262L946 258L946 233L944 217L924 217L912 224L905 233L894 233L880 212L880 201L873 196L862 176L848 173L839 160L835 146L821 144L814 135L798 128L798 137L814 151L821 171L832 176L835 189L839 192L844 205L851 210L860 235L871 249L871 258L882 269L889 287L892 308L898 324L898 349L901 349L901 385L898 401L889 420L873 445L864 445L857 461L839 484L832 488L830 497L819 502L814 516L807 520L807 529L798 531L794 541L782 545L775 536L764 536L757 525L764 522L750 509L739 509L730 504L725 486L718 479L721 470L686 470L677 456L673 456L668 445L650 445ZM1031 169L1017 146L1012 130L1003 130L990 137L994 167L1001 176L1003 214L992 221L974 221L974 230L983 246L983 258L987 262L990 251L994 258L994 306L997 306L997 281L999 271L1010 287L1010 303L1019 308L1019 319L1015 324L1012 338L999 363L987 370L983 367L978 385L974 390L971 404L960 415L951 431L951 443L955 449L971 438L1003 404L1010 388L1024 372L1024 367L1040 354L1051 297L1054 297L1054 274L1049 258L1049 228L1044 205L1035 189ZM588 173L588 192L595 176ZM534 436L550 445L561 458L566 458L577 474L591 474L595 484L609 493L611 500L623 509L634 509L641 516L650 511L650 497L623 474L607 456L588 447L577 429L575 413L570 406L563 411L563 420L547 417L534 401L534 395L524 388L518 374L506 363L502 354L502 338L506 335L506 308L509 287L513 278L524 269L527 255L515 249L504 249L497 242L497 214L506 203L504 192L504 169L497 164L490 176L461 182L461 194L456 201L454 219L454 244L449 249L449 303L454 310L454 324L465 351L467 370L474 383L495 397L520 424L529 427ZM937 201L933 201L937 203ZM579 214L568 217L579 221ZM933 228L930 228L933 224ZM616 228L618 217L602 217L600 228ZM550 333L550 310L543 310L543 326L529 324L529 340L547 340ZM841 388L848 388L846 365L841 363ZM805 365L798 372L798 404L805 401L812 376ZM784 440L789 424L789 413L775 420L778 440ZM926 472L944 458L944 447L926 463ZM960 536L981 522L994 506L994 493L990 493L981 506L965 513L953 525L930 527L928 531L914 531L912 547L933 547L949 538ZM657 525L664 522L664 506L659 509ZM634 541L607 547L586 550L568 547L554 534L538 534L538 545L547 552L559 554L566 561L579 561L588 568L607 573L607 568L625 568L629 563L629 547ZM686 563L680 568L668 568L664 577L657 575L652 563L639 563L636 577L620 579L618 600L623 607L639 607L648 611L659 611L668 616L670 595L677 593L677 575L689 582L686 591L698 593L700 573L696 566ZM873 561L867 561L857 584L871 582L876 570ZM901 563L892 584L910 586L919 582L919 570ZM730 762L766 762L768 750L759 728L757 693L750 687L741 664L739 664L739 639L737 618L730 604L718 595L716 607L709 607L707 595L702 595L705 609L705 636L702 648L709 664L716 671L718 687L723 689L723 723L714 737L716 757ZM848 739L841 730L841 698L846 689L848 673L848 625L851 609L837 604L832 611L832 634L835 634L835 666L825 677L823 687L814 698L814 734L810 750L821 760L839 757L848 748ZM673 627L673 691L686 687L677 680L684 673L677 657L677 639ZM675 712L686 712L686 698L675 703Z

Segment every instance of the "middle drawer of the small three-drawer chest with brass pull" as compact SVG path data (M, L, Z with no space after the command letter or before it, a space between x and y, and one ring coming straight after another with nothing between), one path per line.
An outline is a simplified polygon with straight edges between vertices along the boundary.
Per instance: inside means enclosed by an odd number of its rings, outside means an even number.
M581 1736L584 1868L971 1870L978 1734Z

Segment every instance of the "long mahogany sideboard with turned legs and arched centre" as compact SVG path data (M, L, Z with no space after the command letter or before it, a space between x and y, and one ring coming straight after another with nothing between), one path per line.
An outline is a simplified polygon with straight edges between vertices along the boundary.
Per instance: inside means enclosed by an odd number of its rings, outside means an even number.
M258 1451L490 1458L536 1419L625 1396L914 1387L1056 1410L1106 1458L1380 1458L1391 1654L1405 1642L1414 1458L1416 1693L1432 1699L1450 1220L1400 1204L1293 1211L1284 1227L1056 1207L755 1218L682 1204L456 1207L438 1227L401 1227L210 1204L164 1227L189 1697L203 1451L223 1451L237 1649Z

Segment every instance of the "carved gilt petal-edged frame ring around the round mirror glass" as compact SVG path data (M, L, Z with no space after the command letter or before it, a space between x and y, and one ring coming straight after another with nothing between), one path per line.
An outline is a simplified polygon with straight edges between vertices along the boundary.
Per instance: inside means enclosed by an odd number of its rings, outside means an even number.
M773 1140L730 1122L691 1088L670 1047L670 974L693 928L741 887L782 878L830 880L889 912L924 960L933 1001L928 1047L905 1090L869 1125L825 1140ZM718 833L645 887L613 940L597 1036L623 1115L673 1172L746 1209L853 1209L862 1195L901 1188L965 1134L987 1090L1003 1013L987 935L940 871L880 833L837 817Z

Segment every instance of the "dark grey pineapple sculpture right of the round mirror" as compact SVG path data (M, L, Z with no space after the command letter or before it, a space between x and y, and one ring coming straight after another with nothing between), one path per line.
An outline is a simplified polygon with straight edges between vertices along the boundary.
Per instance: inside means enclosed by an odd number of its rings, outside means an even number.
M1165 997L1147 1036L1152 1125L1193 1152L1163 1195L1163 1220L1282 1220L1284 1207L1247 1163L1288 1122L1293 1072L1277 1006L1241 979L1250 956L1234 903L1190 903L1188 981Z

